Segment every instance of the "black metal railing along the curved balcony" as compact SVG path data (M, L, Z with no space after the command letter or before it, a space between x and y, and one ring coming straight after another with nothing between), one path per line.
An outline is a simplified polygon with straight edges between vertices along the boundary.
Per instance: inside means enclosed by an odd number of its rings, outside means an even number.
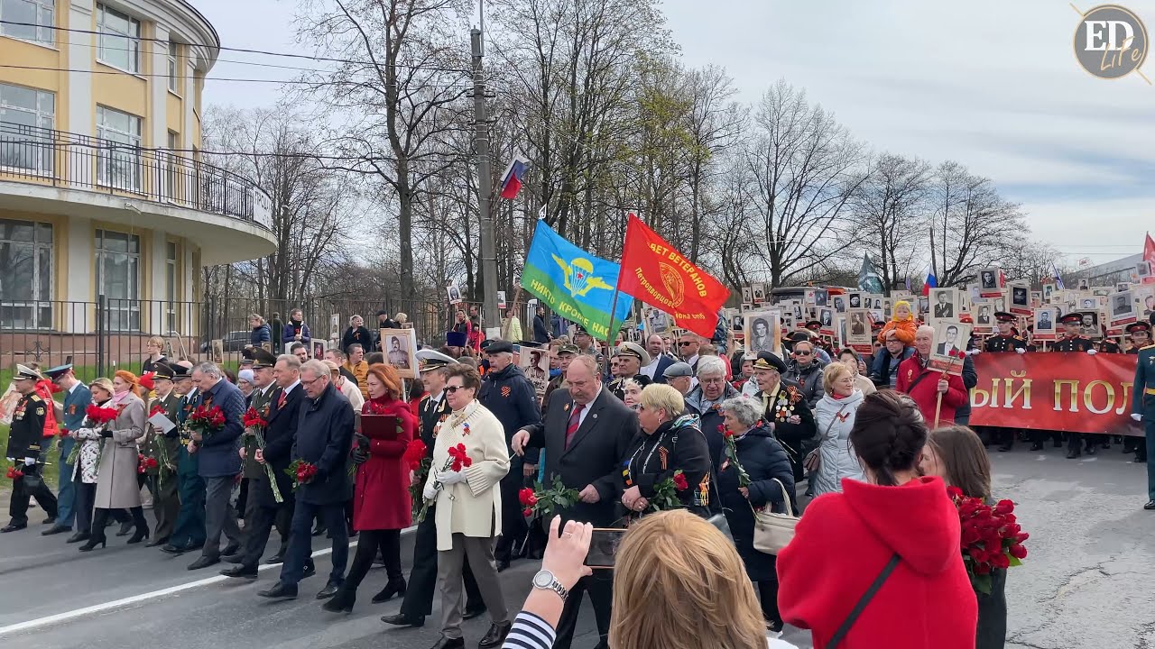
M0 180L171 204L273 229L270 201L231 171L158 149L0 121Z

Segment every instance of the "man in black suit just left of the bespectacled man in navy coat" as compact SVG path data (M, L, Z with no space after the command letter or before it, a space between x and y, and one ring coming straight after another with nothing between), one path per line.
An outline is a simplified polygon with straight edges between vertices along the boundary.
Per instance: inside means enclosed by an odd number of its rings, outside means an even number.
M289 525L293 512L293 480L285 470L292 460L292 445L297 433L300 404L305 400L300 388L300 360L291 353L282 355L273 367L274 388L269 395L268 415L264 420L264 448L253 449L258 471L249 478L252 507L245 517L245 547L238 558L238 566L222 570L229 577L256 579L256 564L264 554L269 532L276 525L281 532L281 549L269 558L268 564L284 561L289 545ZM275 480L269 479L269 472ZM276 484L276 492L273 485ZM277 495L281 501L277 501ZM313 574L312 560L305 566L305 574Z

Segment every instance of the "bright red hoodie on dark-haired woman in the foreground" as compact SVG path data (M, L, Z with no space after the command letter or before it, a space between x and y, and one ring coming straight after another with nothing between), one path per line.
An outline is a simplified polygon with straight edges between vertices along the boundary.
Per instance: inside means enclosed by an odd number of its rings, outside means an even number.
M901 561L839 649L974 649L978 604L959 514L941 478L899 487L842 479L815 498L778 553L782 619L824 649L895 553Z

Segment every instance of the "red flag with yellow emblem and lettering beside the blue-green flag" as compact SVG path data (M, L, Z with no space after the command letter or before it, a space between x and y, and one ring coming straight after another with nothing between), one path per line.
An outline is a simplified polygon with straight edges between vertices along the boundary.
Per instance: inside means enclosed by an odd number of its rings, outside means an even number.
M714 337L718 308L730 291L673 249L633 214L626 226L618 290L673 316L683 329Z

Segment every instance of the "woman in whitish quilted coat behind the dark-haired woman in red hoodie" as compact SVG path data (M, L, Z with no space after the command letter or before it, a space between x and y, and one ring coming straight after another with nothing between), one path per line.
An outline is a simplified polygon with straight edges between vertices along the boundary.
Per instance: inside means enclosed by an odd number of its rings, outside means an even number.
M818 471L811 483L814 495L841 492L842 478L863 479L858 455L850 447L850 428L855 412L863 402L863 393L855 387L855 372L843 363L832 363L822 371L826 395L814 406L818 427Z

